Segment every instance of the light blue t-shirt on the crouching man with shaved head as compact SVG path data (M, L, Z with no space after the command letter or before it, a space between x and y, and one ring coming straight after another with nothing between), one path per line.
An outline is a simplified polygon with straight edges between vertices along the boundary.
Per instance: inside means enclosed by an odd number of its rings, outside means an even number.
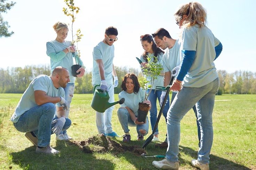
M44 91L48 96L61 96L65 99L65 92L62 87L58 89L55 88L51 77L43 74L39 75L32 80L29 87L23 93L21 100L18 102L18 105L13 113L13 116L11 116L10 120L12 122L16 123L22 114L37 106L34 98L34 91L36 90ZM57 103L57 105L60 106L59 103Z

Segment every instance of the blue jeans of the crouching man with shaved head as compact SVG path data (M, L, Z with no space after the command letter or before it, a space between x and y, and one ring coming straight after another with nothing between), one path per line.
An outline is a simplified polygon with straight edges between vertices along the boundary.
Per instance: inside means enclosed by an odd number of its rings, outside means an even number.
M38 138L38 146L46 147L50 144L52 128L56 123L52 124L55 116L56 108L53 103L45 103L33 107L21 115L18 122L14 123L14 127L20 132L33 132ZM66 122L62 130L67 130L71 126L71 120L66 118Z

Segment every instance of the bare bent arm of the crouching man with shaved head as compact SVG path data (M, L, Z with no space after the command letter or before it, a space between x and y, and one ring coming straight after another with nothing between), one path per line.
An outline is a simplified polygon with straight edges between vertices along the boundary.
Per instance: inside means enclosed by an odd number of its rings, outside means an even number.
M45 91L36 90L34 91L34 98L37 105L42 105L45 103L58 103L61 101L60 96L52 97L48 96Z

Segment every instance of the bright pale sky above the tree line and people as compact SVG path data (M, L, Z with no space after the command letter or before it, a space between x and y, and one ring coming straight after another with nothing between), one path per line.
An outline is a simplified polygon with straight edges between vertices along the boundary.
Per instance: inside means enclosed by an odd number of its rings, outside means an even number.
M15 1L15 0L14 0ZM103 40L108 26L118 29L118 41L114 43L114 65L139 68L143 52L140 35L154 33L165 28L177 39L179 28L173 14L189 1L179 0L74 0L80 8L73 29L81 29L78 48L87 70L92 68L92 50ZM223 51L215 61L216 68L232 73L236 70L256 72L254 0L199 0L208 13L208 27L223 44ZM70 23L63 14L64 0L16 0L16 5L3 14L8 21L9 38L0 39L0 68L24 67L25 65L49 64L46 42L54 40L52 26L57 22ZM71 29L66 40L71 40Z

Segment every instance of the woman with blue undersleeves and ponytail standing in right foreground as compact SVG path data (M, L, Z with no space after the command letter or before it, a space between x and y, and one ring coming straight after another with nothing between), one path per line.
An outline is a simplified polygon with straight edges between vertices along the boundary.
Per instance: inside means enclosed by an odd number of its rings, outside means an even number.
M170 89L179 92L167 114L166 159L152 163L157 168L179 169L180 121L196 104L201 140L197 159L191 163L196 168L209 170L213 141L212 112L219 89L214 60L221 53L222 44L205 25L207 14L200 3L182 5L174 16L182 30L180 50L183 58Z

